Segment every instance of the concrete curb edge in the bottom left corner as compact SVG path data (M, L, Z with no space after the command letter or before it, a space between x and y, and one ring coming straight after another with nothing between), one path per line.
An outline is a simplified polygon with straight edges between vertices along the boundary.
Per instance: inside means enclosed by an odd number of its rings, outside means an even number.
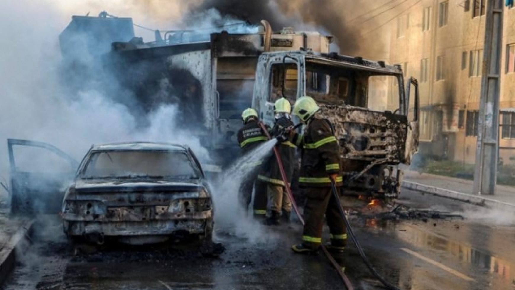
M22 246L27 233L32 229L34 220L24 223L16 233L11 236L9 242L0 250L0 284L3 284L16 263L16 248Z

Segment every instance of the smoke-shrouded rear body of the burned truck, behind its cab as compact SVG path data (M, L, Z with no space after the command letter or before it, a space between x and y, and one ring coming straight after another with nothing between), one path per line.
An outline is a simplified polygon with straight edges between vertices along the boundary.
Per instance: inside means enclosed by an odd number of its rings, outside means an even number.
M142 126L145 116L160 106L176 105L174 123L202 141L214 159L210 165L216 167L227 165L239 151L235 133L242 111L251 106L259 56L306 47L327 53L332 41L318 32L272 32L266 21L211 30L157 30L155 35L152 42L134 37L130 18L73 16L60 36L68 67L81 76L70 83L80 86L93 78L106 95L138 116ZM93 55L95 65L84 64L84 50ZM84 78L86 66L90 72Z

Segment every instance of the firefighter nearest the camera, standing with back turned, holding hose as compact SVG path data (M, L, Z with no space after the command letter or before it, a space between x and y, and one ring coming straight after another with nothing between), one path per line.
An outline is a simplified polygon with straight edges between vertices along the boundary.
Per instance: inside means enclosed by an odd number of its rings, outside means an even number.
M291 247L295 252L315 252L322 242L324 215L331 232L328 249L341 252L347 243L347 228L338 211L339 200L333 197L331 180L341 186L339 146L334 130L320 114L320 108L311 97L301 97L293 113L304 124L304 133L291 130L290 140L302 148L299 186L306 195L304 206L304 231L302 243Z

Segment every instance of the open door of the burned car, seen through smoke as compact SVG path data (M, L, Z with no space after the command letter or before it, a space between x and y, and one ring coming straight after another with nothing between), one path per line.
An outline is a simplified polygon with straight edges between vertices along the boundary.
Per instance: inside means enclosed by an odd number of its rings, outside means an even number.
M8 139L7 149L11 213L58 213L78 162L43 142Z

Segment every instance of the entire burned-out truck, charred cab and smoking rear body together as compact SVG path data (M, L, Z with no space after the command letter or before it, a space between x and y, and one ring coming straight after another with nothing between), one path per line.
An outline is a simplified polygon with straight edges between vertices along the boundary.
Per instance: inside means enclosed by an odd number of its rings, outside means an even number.
M277 98L312 96L335 127L345 193L397 197L401 167L418 146L415 79L405 83L399 65L329 53L332 38L318 32L273 32L266 21L217 29L156 30L155 41L143 42L130 18L73 16L60 44L75 78L102 84L134 115L176 105L175 123L210 150L208 165L216 166L207 171L234 160L243 109L271 124ZM84 51L94 57L84 61Z

